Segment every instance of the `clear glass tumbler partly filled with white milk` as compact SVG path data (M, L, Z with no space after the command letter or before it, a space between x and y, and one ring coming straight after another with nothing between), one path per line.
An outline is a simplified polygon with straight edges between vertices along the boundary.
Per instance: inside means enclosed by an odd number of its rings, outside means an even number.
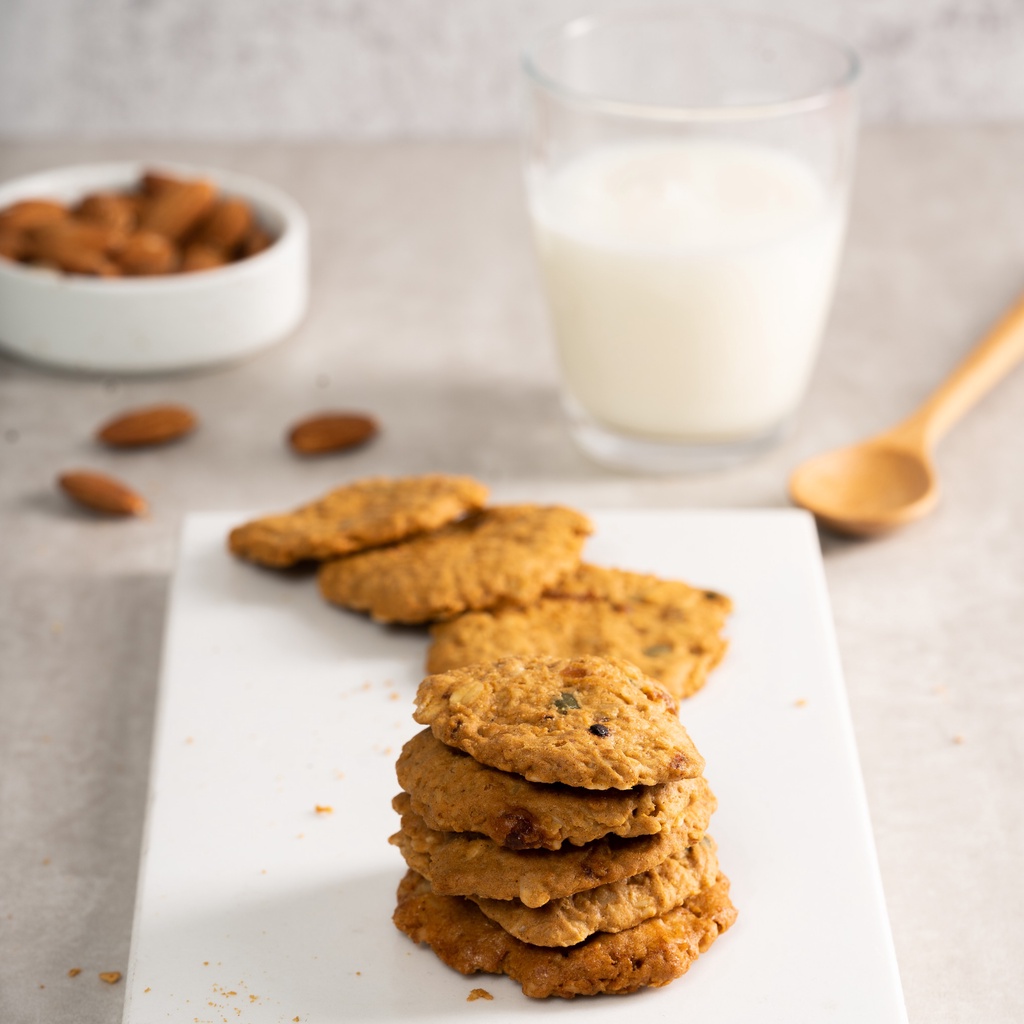
M524 53L525 175L581 446L686 472L777 441L846 222L856 56L788 23L603 8Z

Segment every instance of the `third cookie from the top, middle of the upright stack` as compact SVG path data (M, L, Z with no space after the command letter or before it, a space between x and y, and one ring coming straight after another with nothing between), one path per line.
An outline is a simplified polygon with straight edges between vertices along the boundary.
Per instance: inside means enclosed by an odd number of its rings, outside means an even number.
M708 815L715 809L710 796ZM620 839L606 836L586 846L561 850L509 850L477 833L442 833L428 828L399 793L392 806L401 815L401 830L389 842L406 863L425 876L434 891L452 896L518 899L526 906L572 896L609 882L656 867L702 838L686 828L656 836Z

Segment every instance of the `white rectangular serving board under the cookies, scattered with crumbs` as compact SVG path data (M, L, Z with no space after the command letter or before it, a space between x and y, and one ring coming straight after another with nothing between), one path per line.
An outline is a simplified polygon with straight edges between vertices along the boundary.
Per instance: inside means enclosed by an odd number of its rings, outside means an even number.
M195 515L171 591L125 1021L905 1021L811 520L593 517L590 561L735 601L729 653L681 716L719 798L735 927L684 978L624 998L531 1000L415 946L391 924L404 865L387 838L425 634L232 559L240 517ZM475 986L493 1001L467 1001Z

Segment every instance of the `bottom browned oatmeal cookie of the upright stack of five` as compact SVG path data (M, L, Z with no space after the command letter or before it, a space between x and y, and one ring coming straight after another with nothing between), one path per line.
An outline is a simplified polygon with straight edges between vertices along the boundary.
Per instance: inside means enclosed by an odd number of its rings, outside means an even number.
M714 885L660 918L551 949L520 942L470 900L438 895L429 882L410 871L398 887L393 921L462 974L507 974L526 995L571 998L666 985L685 974L735 918L729 880L719 874Z

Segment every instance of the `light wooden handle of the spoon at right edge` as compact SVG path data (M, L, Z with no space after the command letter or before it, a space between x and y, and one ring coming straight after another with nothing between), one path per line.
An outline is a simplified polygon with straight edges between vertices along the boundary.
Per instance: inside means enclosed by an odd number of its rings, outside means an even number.
M1024 296L897 430L931 446L1024 358Z

